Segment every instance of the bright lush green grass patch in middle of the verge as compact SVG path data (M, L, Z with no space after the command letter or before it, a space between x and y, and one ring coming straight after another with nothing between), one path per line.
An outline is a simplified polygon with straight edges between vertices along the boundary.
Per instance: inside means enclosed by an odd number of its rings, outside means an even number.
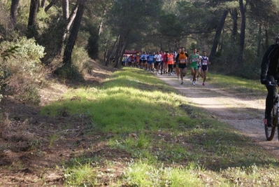
M144 83L145 76L123 72L125 75L112 78L104 88L78 88L72 90L63 102L57 102L42 109L42 114L51 116L63 113L83 113L92 118L92 125L102 132L134 132L145 129L176 129L176 118L183 115L176 113L182 99L175 90L153 76L154 83ZM147 75L146 75L147 76ZM127 79L124 80L124 77ZM130 78L134 77L133 80ZM141 80L141 77L145 78ZM136 80L136 81L135 81ZM112 85L112 82L114 83ZM138 86L139 88L137 88ZM162 88L166 88L161 90ZM173 116L176 116L173 120Z

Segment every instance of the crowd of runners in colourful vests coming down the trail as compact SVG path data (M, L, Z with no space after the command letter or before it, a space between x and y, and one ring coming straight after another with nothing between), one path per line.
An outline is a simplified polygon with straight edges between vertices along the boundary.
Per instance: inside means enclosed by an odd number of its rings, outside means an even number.
M203 78L203 86L205 86L206 76L208 73L208 57L206 51L203 51L202 55L199 55L199 51L194 48L190 55L187 54L185 48L179 48L177 52L169 52L162 50L157 53L143 52L142 55L131 55L127 58L125 65L131 67L140 67L148 71L156 71L157 75L169 74L172 76L176 74L178 81L181 80L181 84L184 83L184 77L187 72L187 65L191 71L192 85L196 85L196 81L199 81L199 77Z

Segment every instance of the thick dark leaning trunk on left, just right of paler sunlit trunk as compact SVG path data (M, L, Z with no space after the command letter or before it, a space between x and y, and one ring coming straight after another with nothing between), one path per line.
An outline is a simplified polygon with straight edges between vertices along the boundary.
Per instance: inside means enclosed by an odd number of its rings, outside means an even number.
M80 29L81 19L83 18L83 12L85 10L86 1L87 0L80 0L78 2L78 11L76 13L76 18L73 21L73 27L71 29L69 40L64 50L63 62L65 65L71 66L71 55L73 52L73 46L75 46L76 43L76 38L78 36L78 30Z

